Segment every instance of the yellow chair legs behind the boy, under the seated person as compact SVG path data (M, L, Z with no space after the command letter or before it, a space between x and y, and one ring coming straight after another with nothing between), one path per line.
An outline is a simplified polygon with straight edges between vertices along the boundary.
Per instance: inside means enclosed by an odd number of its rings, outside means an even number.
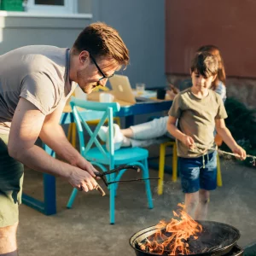
M172 181L177 182L177 145L176 142L167 142L160 144L160 155L159 155L159 181L158 181L158 195L163 194L163 183L165 174L165 161L166 161L166 147L172 146ZM217 185L222 187L222 177L220 170L219 157L217 154Z

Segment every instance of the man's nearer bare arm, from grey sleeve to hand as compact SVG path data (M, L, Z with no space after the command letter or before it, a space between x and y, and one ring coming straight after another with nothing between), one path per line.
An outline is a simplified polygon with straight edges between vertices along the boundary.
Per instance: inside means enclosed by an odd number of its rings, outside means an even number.
M88 172L56 160L35 145L44 119L38 108L20 98L9 134L9 155L34 170L64 177L77 189L94 189L96 180Z

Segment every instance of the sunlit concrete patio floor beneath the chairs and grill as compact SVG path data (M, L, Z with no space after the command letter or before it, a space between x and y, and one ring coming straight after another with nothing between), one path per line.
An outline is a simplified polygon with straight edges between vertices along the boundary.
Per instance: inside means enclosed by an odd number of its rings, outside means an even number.
M158 147L149 148L158 152ZM221 160L224 186L212 192L208 219L235 226L241 232L238 245L256 241L256 169L231 160ZM151 177L158 172L150 169ZM134 173L124 178L134 177ZM151 181L154 209L147 208L143 183L119 185L116 198L116 224L109 224L108 193L79 193L73 209L67 209L71 185L57 178L57 214L45 216L25 205L20 206L18 244L20 256L131 256L129 238L138 230L172 218L177 203L183 202L180 181L165 176L164 195L157 195L157 181ZM102 185L103 186L103 185ZM26 171L24 191L40 199L42 174ZM107 191L107 189L106 189Z

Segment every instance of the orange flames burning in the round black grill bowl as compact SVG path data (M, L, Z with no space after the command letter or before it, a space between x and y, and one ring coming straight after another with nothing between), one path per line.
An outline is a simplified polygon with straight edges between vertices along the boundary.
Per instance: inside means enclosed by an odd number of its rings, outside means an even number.
M202 226L184 211L184 205L177 212L173 211L174 218L169 223L161 220L156 225L157 231L149 236L140 247L148 253L169 253L168 255L190 254L188 239L197 239L197 234L201 233ZM177 219L179 218L179 219Z

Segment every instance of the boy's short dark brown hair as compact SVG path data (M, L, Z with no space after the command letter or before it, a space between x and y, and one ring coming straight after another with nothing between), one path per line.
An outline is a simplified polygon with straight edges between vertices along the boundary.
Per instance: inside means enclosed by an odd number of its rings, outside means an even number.
M218 59L207 51L198 52L191 61L191 73L197 71L202 76L209 78L218 73Z

